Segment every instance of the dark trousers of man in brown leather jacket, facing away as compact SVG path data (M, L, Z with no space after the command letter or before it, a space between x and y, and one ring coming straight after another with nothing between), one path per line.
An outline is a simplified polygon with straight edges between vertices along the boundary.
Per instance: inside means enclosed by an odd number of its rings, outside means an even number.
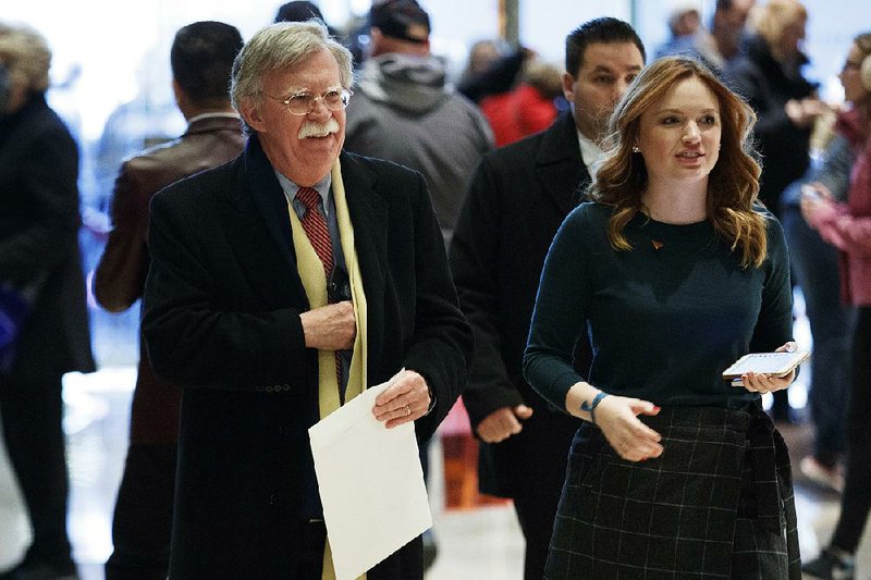
M114 552L106 563L107 580L167 578L176 448L176 444L132 444L127 449L112 520Z

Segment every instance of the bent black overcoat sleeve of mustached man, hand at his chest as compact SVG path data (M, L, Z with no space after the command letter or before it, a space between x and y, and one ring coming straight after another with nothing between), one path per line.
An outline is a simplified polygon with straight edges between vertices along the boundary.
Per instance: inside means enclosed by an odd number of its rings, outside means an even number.
M210 254L216 242L203 225L207 209L180 202L175 194L184 192L176 188L151 201L142 328L155 372L194 387L305 388L309 366L299 311L222 304L216 273L228 268L226 257Z

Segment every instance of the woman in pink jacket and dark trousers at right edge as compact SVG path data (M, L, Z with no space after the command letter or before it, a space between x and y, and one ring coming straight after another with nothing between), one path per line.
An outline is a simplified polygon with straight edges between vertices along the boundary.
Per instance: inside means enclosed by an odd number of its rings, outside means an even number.
M847 201L833 199L821 184L802 197L811 227L838 249L841 291L856 307L852 387L847 424L847 474L841 517L829 546L802 571L812 578L854 578L854 557L871 510L871 33L858 35L841 71L844 98L852 108L835 125L854 153Z

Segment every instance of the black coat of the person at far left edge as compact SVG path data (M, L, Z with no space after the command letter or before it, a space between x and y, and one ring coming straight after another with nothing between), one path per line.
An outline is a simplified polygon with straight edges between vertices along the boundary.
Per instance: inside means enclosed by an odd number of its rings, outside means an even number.
M0 118L0 283L36 292L11 369L94 370L78 248L78 150L41 95Z

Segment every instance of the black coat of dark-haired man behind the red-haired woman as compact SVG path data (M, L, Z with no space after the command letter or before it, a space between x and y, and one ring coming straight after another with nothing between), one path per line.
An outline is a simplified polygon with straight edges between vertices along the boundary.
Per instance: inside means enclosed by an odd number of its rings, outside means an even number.
M565 477L580 421L541 398L524 381L522 363L544 257L588 181L574 119L564 113L549 129L486 155L459 217L451 268L475 332L463 393L473 428L501 407L526 404L535 411L519 434L481 444L487 493L514 497L541 478ZM586 374L589 346L576 357Z

